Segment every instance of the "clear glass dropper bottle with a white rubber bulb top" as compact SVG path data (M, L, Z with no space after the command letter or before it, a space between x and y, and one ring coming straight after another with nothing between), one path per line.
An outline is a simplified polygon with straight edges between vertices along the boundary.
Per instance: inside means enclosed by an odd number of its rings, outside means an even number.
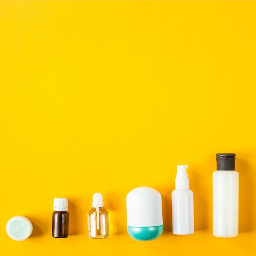
M93 195L92 209L88 213L88 232L90 238L108 238L108 211L103 207L101 193Z

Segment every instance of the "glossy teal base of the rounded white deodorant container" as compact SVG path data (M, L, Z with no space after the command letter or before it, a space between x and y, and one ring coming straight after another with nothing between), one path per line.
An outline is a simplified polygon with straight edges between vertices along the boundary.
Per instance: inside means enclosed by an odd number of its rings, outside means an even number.
M159 238L163 232L163 225L155 227L128 227L128 234L138 241L150 241Z

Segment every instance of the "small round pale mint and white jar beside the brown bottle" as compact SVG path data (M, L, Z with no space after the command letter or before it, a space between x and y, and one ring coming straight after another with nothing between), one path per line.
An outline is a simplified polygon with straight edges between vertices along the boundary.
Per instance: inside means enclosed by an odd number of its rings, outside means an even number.
M31 235L33 226L31 221L24 216L15 216L11 218L6 225L6 232L10 238L16 241L22 241Z

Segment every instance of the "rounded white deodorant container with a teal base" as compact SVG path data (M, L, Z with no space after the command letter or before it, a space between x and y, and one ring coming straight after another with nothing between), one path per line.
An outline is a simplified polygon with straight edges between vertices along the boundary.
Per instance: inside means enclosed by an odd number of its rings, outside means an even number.
M139 241L154 240L163 232L162 198L155 189L142 186L126 196L127 231Z

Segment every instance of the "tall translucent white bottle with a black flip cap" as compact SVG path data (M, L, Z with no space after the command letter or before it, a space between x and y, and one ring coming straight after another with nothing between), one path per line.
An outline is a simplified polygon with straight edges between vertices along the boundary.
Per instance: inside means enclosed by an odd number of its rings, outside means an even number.
M236 154L216 154L213 172L213 236L238 235L238 172Z

